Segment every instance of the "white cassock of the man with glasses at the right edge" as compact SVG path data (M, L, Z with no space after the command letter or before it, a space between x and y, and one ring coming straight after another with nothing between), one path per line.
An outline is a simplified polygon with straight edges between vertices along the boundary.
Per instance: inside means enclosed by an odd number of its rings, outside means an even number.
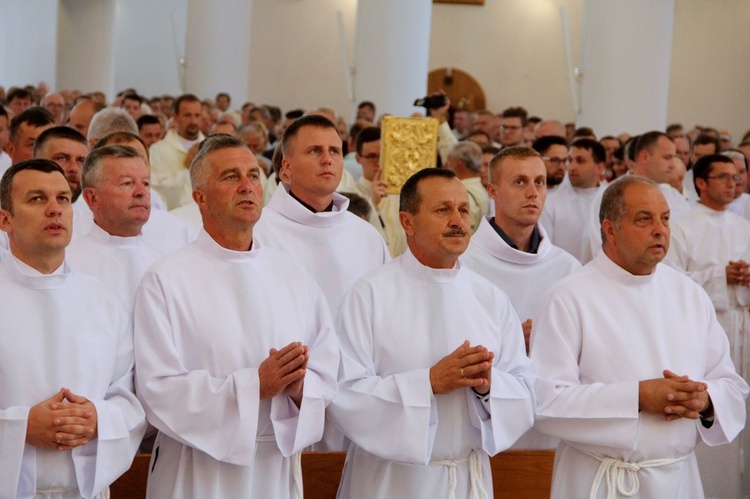
M732 361L740 375L750 379L750 289L727 284L729 261L750 262L750 221L731 213L696 204L672 226L672 242L666 262L686 273L708 293L719 324L729 337ZM750 435L730 446L698 449L698 463L704 476L706 495L739 497L741 473L743 491L750 494ZM742 468L741 449L746 456Z

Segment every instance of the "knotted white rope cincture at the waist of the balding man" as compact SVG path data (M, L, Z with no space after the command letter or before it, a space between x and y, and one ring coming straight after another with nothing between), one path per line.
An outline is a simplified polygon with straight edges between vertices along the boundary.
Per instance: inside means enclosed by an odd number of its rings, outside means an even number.
M580 450L580 449L579 449ZM638 479L638 472L644 468L658 468L660 466L668 466L670 464L679 463L685 461L690 454L676 458L664 458L664 459L647 459L645 461L638 461L636 463L629 463L621 459L615 459L613 457L599 457L590 452L581 451L584 454L593 457L597 461L601 462L599 469L596 471L594 477L594 483L591 484L591 493L589 499L596 499L596 495L599 493L602 480L606 477L607 479L607 499L617 499L618 495L625 497L633 497L638 493L641 488L641 481ZM630 488L625 489L625 477L629 479Z

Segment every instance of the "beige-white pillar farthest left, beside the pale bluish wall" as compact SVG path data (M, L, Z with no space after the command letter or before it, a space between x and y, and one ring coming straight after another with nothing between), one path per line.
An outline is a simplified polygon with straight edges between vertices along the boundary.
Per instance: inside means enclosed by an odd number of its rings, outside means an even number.
M60 0L57 88L114 97L115 0Z

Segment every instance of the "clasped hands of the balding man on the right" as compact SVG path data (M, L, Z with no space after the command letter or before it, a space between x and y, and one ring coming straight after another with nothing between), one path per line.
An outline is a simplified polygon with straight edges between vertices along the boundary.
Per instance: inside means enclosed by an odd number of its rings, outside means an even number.
M664 378L649 379L638 384L638 408L653 414L663 414L667 421L679 418L698 419L711 409L708 385L678 376L669 369Z

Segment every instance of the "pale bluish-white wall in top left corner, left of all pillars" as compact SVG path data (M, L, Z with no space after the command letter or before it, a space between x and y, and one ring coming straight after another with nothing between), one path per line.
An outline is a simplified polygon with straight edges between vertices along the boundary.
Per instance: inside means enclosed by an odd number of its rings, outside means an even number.
M57 0L0 0L0 85L55 88Z

